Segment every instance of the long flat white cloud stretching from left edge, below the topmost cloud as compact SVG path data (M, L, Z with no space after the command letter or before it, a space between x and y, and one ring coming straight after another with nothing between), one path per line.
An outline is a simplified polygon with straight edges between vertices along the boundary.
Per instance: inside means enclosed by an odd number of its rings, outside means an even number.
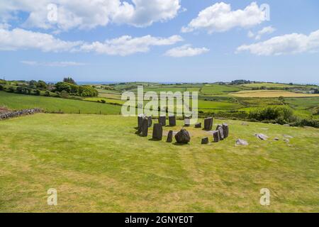
M0 28L1 50L42 50L43 52L97 52L106 55L132 55L148 52L152 46L173 45L182 41L179 35L168 38L145 35L133 38L123 35L119 38L105 40L103 43L84 43L84 41L65 41L47 33L37 33L21 28L6 30Z

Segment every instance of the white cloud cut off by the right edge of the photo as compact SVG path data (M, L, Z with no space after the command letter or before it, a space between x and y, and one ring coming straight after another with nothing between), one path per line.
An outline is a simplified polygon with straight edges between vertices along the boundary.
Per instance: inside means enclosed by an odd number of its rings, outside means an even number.
M276 36L269 40L252 45L241 45L237 52L249 51L254 55L286 55L319 50L319 30L303 35L292 33Z

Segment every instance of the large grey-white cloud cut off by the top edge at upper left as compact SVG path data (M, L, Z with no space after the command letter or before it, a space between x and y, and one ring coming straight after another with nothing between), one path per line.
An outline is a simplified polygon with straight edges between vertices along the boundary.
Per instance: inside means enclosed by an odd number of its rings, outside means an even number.
M57 5L57 21L49 21L48 4ZM28 13L25 26L67 31L72 28L89 29L108 23L150 26L157 21L174 18L181 9L179 0L8 0L0 2L0 19L15 19L15 13Z

